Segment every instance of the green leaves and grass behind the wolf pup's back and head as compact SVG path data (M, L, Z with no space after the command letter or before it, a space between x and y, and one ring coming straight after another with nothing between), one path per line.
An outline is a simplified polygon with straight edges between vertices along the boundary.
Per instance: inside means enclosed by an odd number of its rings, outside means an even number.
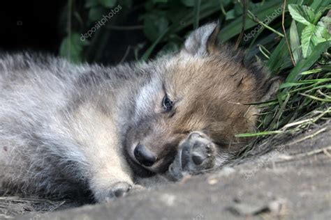
M61 15L66 36L59 52L73 62L147 61L156 54L178 51L187 33L217 20L220 42L244 47L247 62L258 59L270 74L284 79L277 99L258 103L264 109L260 132L238 136L293 133L330 117L330 3L68 0ZM105 15L110 19L103 24ZM127 42L124 39L134 44L119 49L117 44Z

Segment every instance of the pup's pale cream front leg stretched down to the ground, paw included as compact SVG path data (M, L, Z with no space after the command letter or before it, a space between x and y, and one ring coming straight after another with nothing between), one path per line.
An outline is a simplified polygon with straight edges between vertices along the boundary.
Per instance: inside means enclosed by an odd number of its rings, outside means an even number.
M84 104L69 121L69 129L80 148L72 148L66 155L75 156L77 151L81 152L85 160L82 175L87 177L84 180L96 201L108 201L126 194L133 186L133 173L117 139L112 117L96 109L94 104Z

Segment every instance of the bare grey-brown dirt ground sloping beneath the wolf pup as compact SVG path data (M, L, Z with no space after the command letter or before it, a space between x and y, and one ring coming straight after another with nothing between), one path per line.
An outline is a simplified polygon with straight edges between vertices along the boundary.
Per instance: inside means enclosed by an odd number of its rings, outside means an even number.
M106 204L0 197L0 219L331 219L331 123L273 137L246 157Z

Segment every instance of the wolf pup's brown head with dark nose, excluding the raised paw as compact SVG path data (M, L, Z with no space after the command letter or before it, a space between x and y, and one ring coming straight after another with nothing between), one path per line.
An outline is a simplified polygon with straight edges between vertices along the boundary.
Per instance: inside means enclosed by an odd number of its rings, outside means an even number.
M260 102L277 90L256 63L245 65L244 53L219 45L218 24L193 31L182 50L148 64L151 77L135 97L126 151L154 173L168 169L179 142L201 131L222 150L238 150L245 141L235 134L253 132ZM275 89L276 88L276 89Z

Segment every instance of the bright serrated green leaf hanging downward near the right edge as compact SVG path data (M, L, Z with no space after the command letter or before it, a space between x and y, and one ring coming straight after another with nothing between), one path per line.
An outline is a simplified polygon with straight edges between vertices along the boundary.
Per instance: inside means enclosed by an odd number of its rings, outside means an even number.
M301 45L302 55L307 58L311 54L314 46L318 43L325 41L323 38L325 32L328 32L324 26L309 24L302 30Z

